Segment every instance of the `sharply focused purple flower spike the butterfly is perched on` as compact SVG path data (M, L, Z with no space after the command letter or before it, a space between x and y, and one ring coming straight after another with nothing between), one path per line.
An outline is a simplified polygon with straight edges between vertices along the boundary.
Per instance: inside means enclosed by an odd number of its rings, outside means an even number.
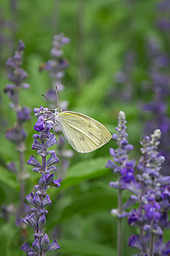
M28 243L20 247L27 255L46 255L47 252L60 249L56 240L50 244L50 240L44 229L46 223L45 214L48 213L46 207L51 204L47 189L49 187L58 188L61 182L61 179L54 180L54 173L52 173L59 159L56 157L55 151L48 150L48 148L57 143L57 140L53 133L50 132L52 121L50 124L48 121L45 121L45 118L47 118L46 110L42 107L34 109L35 116L38 116L38 121L34 125L34 129L39 134L33 136L34 143L32 148L37 150L36 153L42 157L42 162L40 163L34 156L31 156L27 162L28 165L34 167L33 170L36 173L41 173L39 184L35 185L33 192L26 196L26 200L32 207L32 213L28 214L22 221L34 230L32 247Z

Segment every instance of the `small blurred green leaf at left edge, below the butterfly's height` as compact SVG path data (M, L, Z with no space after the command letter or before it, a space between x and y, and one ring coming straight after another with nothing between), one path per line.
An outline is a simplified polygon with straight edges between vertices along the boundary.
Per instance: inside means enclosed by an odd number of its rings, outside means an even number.
M6 170L4 167L0 167L0 181L4 184L7 184L12 189L19 189L18 181L16 180L16 176L13 173L10 173L9 170Z

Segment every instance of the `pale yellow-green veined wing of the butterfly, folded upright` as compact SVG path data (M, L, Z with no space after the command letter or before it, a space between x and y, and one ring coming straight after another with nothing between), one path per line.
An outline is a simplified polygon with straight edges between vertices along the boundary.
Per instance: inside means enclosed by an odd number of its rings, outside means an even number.
M112 138L103 124L81 113L63 111L56 120L66 140L80 153L94 151Z

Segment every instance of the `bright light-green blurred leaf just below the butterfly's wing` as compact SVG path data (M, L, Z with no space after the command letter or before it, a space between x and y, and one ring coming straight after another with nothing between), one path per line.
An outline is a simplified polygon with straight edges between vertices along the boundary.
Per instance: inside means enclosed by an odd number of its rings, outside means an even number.
M107 175L107 173L110 173L110 170L105 167L107 161L107 157L98 157L73 165L69 168L66 178L62 181L61 189L78 184L86 179Z

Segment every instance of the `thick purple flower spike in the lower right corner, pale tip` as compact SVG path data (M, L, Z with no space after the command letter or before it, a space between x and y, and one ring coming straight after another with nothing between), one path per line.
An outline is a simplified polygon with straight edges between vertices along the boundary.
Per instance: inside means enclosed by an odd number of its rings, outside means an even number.
M169 227L170 177L161 175L165 158L158 154L160 140L160 129L141 140L142 157L137 165L136 179L126 186L134 193L139 206L128 214L128 223L139 228L139 236L131 236L129 246L139 249L139 255L164 255L163 229Z

